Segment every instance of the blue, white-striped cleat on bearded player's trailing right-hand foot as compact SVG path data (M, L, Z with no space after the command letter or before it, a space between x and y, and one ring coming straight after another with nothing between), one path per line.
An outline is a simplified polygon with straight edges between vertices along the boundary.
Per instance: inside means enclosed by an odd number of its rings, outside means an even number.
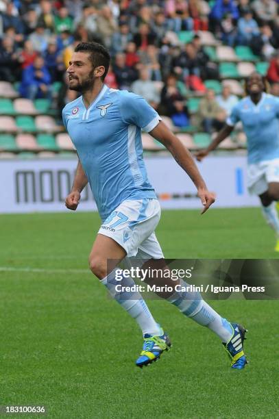
M236 370L243 370L245 365L248 364L243 352L243 342L246 339L245 333L247 330L237 323L231 323L231 325L234 334L226 344L223 343L223 346L230 357L230 366Z

